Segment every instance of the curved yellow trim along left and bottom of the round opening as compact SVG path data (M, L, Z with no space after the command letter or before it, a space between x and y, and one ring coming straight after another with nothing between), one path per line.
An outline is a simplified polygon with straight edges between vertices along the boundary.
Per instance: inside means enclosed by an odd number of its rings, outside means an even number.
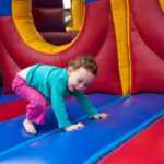
M40 52L57 54L67 49L75 42L78 36L70 44L62 46L55 46L44 40L34 26L31 5L32 0L12 0L13 20L19 34L27 46Z

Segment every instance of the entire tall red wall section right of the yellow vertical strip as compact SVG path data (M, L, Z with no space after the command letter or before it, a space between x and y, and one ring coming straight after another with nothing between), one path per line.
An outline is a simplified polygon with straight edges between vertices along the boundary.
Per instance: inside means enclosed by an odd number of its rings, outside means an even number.
M164 14L157 0L130 0L131 94L164 93Z

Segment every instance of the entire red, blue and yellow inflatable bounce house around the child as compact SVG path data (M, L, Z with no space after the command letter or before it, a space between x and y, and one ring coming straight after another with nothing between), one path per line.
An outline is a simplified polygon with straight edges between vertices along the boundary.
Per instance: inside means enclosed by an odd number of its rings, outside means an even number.
M164 0L71 0L71 17L66 26L62 0L0 1L0 163L164 164ZM69 98L70 120L85 128L59 129L49 104L46 124L26 133L16 72L81 54L99 68L85 94L109 118L89 120Z

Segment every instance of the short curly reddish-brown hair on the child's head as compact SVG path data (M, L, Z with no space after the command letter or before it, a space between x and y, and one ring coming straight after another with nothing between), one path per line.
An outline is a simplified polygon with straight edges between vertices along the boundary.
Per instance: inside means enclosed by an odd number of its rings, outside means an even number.
M73 69L79 69L83 67L84 69L91 71L94 75L97 75L98 66L94 58L90 55L81 55L68 63L68 67L73 67Z

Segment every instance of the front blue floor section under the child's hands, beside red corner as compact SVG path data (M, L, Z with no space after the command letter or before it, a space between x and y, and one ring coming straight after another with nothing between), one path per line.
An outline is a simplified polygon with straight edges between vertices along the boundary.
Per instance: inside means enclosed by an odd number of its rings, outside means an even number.
M102 98L95 99L96 103ZM31 144L17 147L11 152L1 154L0 161L2 164L85 163L107 145L113 144L163 112L163 99L164 95L162 94L133 95L114 106L106 106L103 109L103 112L109 114L109 118L106 120L89 121L87 118L84 118L85 128L71 132L54 131L37 141L34 140ZM12 138L17 140L17 133L14 133L14 136ZM5 133L5 137L11 139L8 133ZM7 144L7 142L3 141L3 144Z

